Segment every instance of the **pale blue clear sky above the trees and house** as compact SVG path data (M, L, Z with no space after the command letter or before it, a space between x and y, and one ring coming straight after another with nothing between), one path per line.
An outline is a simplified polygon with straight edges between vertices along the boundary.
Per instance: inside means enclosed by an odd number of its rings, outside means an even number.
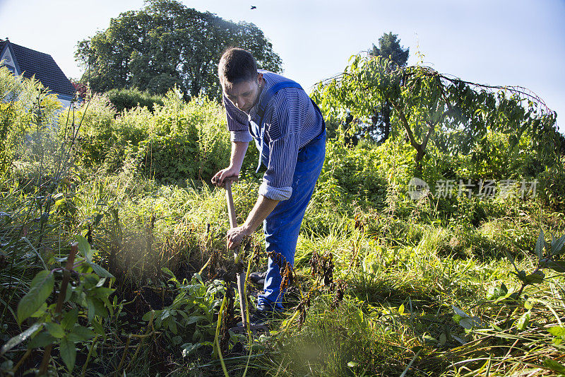
M285 75L309 88L388 31L434 69L492 85L524 86L558 113L565 132L565 0L184 0L198 11L255 23L283 59ZM251 5L257 8L251 10ZM76 43L143 0L0 0L0 37L51 54L81 76Z

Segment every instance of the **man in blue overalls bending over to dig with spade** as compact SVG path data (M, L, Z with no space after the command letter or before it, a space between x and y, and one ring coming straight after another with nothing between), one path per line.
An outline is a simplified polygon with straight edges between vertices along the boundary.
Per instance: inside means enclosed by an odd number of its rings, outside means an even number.
M227 231L235 249L263 222L266 250L294 266L300 224L326 153L326 127L319 108L294 81L258 70L247 51L230 48L220 59L218 77L230 130L230 166L212 178L222 186L237 180L249 141L267 170L257 202L242 226ZM257 168L258 170L258 168ZM257 311L251 322L283 309L279 266L269 258Z

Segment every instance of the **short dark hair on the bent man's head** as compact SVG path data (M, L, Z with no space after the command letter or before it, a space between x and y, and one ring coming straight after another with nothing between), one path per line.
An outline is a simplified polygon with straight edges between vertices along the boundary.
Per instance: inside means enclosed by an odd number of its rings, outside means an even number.
M218 63L220 83L238 83L257 78L257 63L251 52L237 47L227 49Z

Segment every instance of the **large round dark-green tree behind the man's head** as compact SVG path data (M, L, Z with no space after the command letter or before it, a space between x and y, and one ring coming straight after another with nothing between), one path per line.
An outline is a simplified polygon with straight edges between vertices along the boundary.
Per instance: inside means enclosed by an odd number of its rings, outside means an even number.
M249 50L258 66L280 72L280 57L256 25L225 21L176 0L148 0L140 11L112 18L106 30L78 42L75 57L93 91L165 94L178 86L186 97L220 98L218 61L227 47Z

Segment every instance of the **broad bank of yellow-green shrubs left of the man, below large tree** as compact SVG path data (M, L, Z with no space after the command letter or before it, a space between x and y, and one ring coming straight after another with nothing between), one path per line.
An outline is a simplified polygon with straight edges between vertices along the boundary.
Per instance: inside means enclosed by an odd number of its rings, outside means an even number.
M81 119L83 114L78 161L90 170L112 173L129 161L146 177L186 184L187 180L208 181L230 161L225 112L206 98L186 103L179 91L170 91L153 113L136 107L116 116L108 98L94 95L74 118ZM64 112L60 117L68 116ZM247 160L254 165L257 153L253 148L249 151Z

